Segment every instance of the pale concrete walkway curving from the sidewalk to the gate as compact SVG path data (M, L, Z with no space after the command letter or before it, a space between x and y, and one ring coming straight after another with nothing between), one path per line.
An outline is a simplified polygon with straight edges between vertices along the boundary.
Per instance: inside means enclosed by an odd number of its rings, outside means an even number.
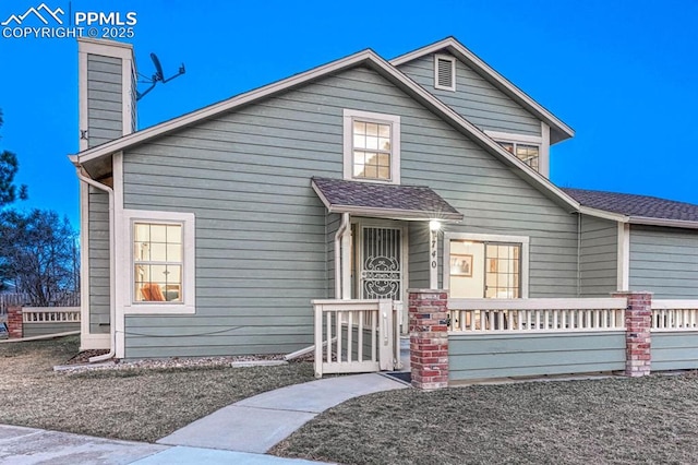
M224 407L157 444L0 425L0 463L316 465L264 453L327 408L405 388L376 373L296 384Z

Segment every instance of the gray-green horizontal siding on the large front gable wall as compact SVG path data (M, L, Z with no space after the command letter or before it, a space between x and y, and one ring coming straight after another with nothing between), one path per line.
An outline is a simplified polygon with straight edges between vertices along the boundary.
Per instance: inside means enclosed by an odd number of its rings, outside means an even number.
M354 69L125 154L124 207L196 215L196 314L129 315L128 357L312 344L310 301L334 294L338 216L327 217L310 177L342 177L345 108L399 115L402 183L429 184L459 208L467 220L453 230L530 236L532 294L576 295L574 217L383 78ZM410 225L410 286L424 279L425 231ZM202 331L215 327L222 332Z

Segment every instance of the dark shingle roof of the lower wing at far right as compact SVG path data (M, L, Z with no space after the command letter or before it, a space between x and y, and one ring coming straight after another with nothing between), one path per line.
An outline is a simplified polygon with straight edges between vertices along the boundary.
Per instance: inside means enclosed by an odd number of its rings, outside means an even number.
M658 219L698 222L698 205L676 202L649 195L616 192L589 191L585 189L563 189L583 206L619 213L626 216L641 216Z

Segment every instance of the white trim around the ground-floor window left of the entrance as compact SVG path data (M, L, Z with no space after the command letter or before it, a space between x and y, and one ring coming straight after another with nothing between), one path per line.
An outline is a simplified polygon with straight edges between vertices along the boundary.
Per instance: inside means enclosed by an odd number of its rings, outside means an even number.
M196 286L195 286L195 218L193 213L181 212L151 212L145 210L123 211L124 231L122 238L124 245L121 250L127 251L129 290L123 302L124 314L191 314L196 312ZM182 225L182 302L139 302L134 301L134 265L133 265L133 224L134 223L180 223Z

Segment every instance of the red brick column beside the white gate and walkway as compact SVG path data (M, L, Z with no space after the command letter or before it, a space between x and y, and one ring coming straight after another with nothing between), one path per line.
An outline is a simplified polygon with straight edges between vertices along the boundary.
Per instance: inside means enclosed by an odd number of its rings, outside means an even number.
M412 385L426 391L448 386L448 291L408 289Z

